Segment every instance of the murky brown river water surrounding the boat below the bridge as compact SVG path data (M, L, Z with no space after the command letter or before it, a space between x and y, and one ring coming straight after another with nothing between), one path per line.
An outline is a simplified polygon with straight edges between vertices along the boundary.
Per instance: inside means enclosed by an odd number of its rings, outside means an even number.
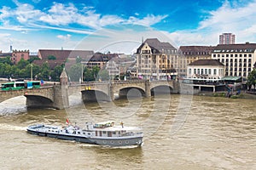
M0 104L1 169L256 169L253 99L160 95L26 110L25 98ZM113 120L143 127L142 147L109 148L26 133L34 123L83 126Z

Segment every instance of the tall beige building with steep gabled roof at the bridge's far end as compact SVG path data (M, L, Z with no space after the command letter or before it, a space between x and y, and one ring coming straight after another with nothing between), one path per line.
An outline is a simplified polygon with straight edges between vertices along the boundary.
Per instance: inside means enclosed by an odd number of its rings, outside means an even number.
M177 61L177 48L169 42L148 38L137 48L137 76L148 80L174 79Z

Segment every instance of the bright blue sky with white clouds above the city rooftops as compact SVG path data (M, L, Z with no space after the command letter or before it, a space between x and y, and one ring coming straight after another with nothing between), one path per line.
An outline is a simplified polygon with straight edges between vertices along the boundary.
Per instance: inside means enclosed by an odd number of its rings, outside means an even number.
M147 38L182 45L256 42L256 0L5 0L0 50L81 49L132 54Z

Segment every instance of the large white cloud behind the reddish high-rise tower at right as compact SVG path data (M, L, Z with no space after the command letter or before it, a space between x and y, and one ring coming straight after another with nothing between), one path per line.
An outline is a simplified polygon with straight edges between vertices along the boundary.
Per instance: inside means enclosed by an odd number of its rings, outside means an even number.
M255 42L256 1L237 7L228 1L201 20L195 30L167 32L180 45L217 45L218 36L224 32L236 35L236 43ZM206 12L206 11L205 11Z

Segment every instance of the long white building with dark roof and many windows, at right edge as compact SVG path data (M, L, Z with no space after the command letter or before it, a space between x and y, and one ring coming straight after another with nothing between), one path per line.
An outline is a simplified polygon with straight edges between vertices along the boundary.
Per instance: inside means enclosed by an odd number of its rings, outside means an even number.
M256 43L218 44L212 51L212 59L225 65L226 77L246 78L256 62Z

